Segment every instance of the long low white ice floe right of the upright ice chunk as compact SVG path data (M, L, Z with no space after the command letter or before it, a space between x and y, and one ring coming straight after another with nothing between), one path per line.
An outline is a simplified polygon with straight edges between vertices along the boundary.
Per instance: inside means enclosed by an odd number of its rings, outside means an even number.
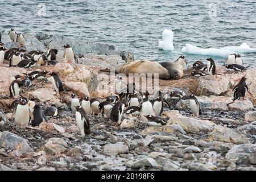
M186 44L186 46L181 49L181 52L191 53L193 55L207 55L207 56L219 56L219 57L228 57L231 53L234 53L226 49L216 49L216 48L203 49L203 48L193 46L191 44Z

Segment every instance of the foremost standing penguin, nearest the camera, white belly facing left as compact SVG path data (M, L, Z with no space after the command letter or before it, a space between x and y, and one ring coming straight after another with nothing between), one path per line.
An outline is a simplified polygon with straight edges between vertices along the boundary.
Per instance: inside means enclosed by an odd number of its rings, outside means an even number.
M90 118L81 106L76 106L76 124L79 127L82 137L90 134Z

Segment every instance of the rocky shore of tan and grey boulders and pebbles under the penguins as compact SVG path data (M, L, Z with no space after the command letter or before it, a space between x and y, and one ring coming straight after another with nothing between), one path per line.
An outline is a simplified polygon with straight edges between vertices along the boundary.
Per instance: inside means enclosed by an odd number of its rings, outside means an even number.
M191 68L180 80L159 80L171 110L164 108L165 126L148 126L137 116L124 115L121 125L103 117L92 117L92 134L81 137L70 95L105 98L108 89L100 85L100 69L125 63L126 51L114 46L62 36L26 35L26 48L46 51L57 48L56 65L35 68L0 65L0 171L1 170L255 170L256 169L256 68L230 72L218 67L222 75L190 76ZM17 46L3 35L6 47ZM69 43L79 55L80 64L61 63L61 46ZM71 90L59 95L47 80L33 81L22 96L36 97L46 107L56 104L59 115L39 127L19 128L11 117L10 78L31 71L56 72ZM108 74L107 74L108 75ZM234 85L247 78L245 100L232 102ZM108 75L112 78L112 76ZM169 98L172 88L195 94L203 115L191 117L186 100ZM43 108L45 109L45 108ZM3 121L3 122L2 122Z

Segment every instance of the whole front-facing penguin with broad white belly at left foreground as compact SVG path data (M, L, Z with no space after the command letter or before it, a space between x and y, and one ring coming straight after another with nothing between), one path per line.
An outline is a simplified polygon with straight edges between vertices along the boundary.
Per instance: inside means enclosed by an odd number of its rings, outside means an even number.
M15 110L14 121L19 127L28 126L30 122L30 110L28 109L27 100L19 98L18 105Z

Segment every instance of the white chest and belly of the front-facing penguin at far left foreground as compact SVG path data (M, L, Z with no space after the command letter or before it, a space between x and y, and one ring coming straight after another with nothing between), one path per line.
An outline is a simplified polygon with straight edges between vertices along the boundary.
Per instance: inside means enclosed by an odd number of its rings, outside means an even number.
M28 105L18 105L15 112L15 122L20 127L25 127L30 121Z

